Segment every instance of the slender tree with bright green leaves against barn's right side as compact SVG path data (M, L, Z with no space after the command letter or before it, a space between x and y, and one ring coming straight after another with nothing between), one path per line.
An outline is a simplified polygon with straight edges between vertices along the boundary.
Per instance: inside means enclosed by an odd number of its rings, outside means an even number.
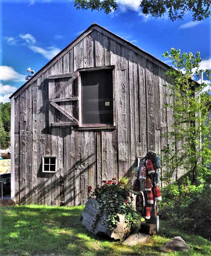
M211 119L208 115L211 96L204 91L207 85L192 80L203 72L210 79L211 71L200 70L200 53L181 54L180 50L171 48L164 57L172 60L174 68L166 72L173 81L168 84L169 96L174 100L166 104L172 110L172 130L167 133L171 143L163 150L163 165L168 171L164 180L169 183L173 172L183 169L189 173L192 184L198 181L211 181ZM177 178L177 175L175 175Z

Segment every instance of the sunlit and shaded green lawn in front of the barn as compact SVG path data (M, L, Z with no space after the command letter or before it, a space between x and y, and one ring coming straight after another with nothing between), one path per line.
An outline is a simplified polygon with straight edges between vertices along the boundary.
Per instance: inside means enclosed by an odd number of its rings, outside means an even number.
M161 222L160 235L145 245L128 247L92 235L81 225L84 206L19 206L0 208L1 256L208 256L211 243L200 236L172 229ZM174 236L181 236L190 252L162 252Z

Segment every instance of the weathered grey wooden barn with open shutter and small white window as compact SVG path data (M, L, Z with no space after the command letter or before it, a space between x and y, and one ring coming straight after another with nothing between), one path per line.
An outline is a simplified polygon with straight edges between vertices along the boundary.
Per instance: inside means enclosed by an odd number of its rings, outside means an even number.
M11 198L86 203L168 144L169 66L93 23L11 95Z

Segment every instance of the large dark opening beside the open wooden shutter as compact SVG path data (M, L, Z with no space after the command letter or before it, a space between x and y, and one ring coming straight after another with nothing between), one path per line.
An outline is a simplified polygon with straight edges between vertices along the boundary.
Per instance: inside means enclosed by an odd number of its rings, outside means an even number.
M82 126L113 126L113 68L80 74Z

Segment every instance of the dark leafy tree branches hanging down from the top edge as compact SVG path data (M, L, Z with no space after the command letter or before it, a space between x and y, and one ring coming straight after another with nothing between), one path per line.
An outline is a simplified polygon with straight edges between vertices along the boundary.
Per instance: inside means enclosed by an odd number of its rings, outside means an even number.
M117 0L75 0L74 6L76 9L91 9L101 11L106 14L111 11L116 11L118 8ZM151 14L158 18L168 12L169 18L172 21L183 20L186 12L192 12L192 20L200 21L209 17L211 0L142 0L140 7L146 15Z

